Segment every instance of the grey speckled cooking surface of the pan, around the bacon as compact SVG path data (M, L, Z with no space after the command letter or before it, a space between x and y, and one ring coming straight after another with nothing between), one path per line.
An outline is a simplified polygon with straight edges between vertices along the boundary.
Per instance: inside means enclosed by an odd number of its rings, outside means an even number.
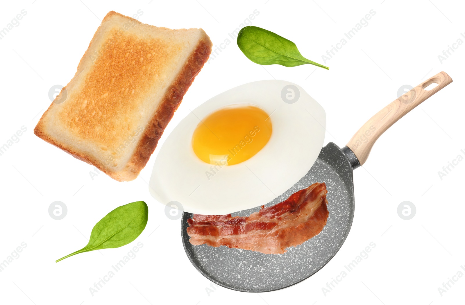
M352 225L354 196L352 166L344 153L330 142L322 148L310 171L292 188L266 205L272 206L292 193L325 182L328 190L328 221L323 231L302 245L287 248L284 254L263 254L250 250L191 245L186 233L187 219L181 218L182 242L195 268L214 283L243 292L282 289L312 276L339 251ZM260 207L232 213L248 216Z

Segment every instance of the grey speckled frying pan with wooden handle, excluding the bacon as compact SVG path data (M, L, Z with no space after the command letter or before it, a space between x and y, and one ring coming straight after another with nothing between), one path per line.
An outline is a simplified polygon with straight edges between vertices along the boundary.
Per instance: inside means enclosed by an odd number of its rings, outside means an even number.
M186 229L192 213L184 212L181 234L184 250L194 267L212 282L242 292L269 292L297 284L325 266L339 251L349 234L354 215L352 171L362 166L379 136L406 113L428 99L452 79L445 72L425 80L369 119L343 148L329 142L321 149L306 175L266 206L287 199L314 182L325 182L328 190L329 217L317 236L302 245L287 248L284 254L263 254L226 246L191 245ZM432 83L438 86L425 88ZM235 212L248 216L260 207Z

